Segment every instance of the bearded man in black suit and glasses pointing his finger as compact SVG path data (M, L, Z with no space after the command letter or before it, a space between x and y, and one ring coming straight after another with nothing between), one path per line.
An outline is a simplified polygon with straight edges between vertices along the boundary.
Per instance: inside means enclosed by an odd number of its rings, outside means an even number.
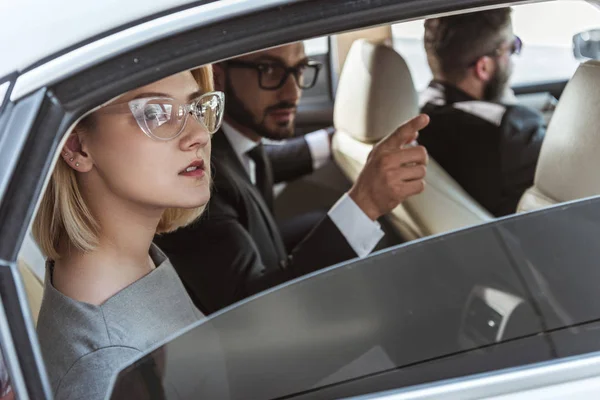
M225 117L212 139L210 203L196 224L156 239L196 306L207 314L368 255L384 236L377 219L424 188L427 152L409 146L428 123L421 115L378 143L352 188L293 249L286 248L272 213L274 170L287 159L298 171L307 159L298 154L308 151L312 158L315 152L312 139L300 138L298 152L284 148L272 161L263 142L293 136L302 90L314 84L318 72L302 43L214 66L215 87L225 92Z

